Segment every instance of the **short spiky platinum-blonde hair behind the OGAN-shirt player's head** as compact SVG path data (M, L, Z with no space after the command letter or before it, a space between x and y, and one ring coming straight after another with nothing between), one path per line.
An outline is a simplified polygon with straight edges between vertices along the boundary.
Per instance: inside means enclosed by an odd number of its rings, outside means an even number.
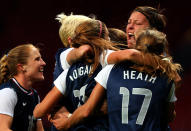
M57 15L56 20L61 23L59 29L60 39L65 47L69 47L68 38L74 37L76 27L85 21L91 21L92 18L84 15L73 15L73 13L70 15L61 13Z

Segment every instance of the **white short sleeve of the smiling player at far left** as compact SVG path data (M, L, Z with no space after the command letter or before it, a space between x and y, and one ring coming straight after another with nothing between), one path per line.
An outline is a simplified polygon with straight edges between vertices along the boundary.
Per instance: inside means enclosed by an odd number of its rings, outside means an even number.
M4 88L0 90L0 114L13 117L16 104L17 94L13 89Z

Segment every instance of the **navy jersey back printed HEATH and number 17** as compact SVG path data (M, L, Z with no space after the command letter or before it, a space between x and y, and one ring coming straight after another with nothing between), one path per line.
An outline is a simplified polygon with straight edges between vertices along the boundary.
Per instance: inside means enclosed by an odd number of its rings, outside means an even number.
M125 63L115 65L107 82L110 131L163 131L170 87L165 76L151 76Z

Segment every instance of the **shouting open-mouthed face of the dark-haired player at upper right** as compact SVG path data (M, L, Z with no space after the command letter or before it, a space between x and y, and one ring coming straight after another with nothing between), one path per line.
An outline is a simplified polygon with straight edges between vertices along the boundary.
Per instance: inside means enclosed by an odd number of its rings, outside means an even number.
M126 27L127 43L129 48L135 48L136 41L134 33L148 27L150 27L149 21L142 13L135 11L131 14Z

